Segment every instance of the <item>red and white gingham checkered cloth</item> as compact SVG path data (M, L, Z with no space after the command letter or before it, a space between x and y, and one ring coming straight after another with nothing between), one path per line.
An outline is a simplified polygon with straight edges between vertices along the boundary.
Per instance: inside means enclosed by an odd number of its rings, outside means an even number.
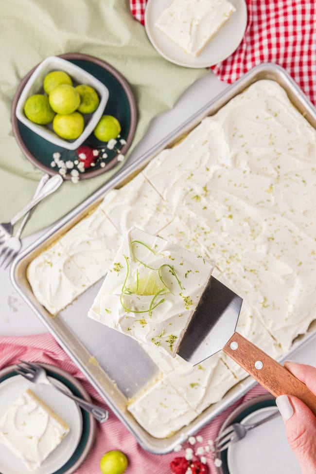
M130 0L132 15L144 24L147 0ZM232 83L263 62L282 66L316 104L316 1L246 0L248 23L236 51L212 66Z

